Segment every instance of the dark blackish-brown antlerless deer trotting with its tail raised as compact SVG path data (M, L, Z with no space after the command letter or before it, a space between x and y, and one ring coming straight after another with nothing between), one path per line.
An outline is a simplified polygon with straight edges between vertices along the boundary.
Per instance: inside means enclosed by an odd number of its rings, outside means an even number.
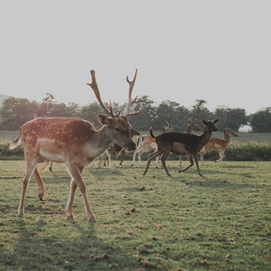
M206 121L202 120L203 125L205 126L204 132L202 135L193 135L193 134L185 134L185 133L178 133L178 132L170 132L170 133L163 133L160 135L155 136L152 131L152 127L150 127L150 135L155 139L157 150L149 155L145 172L145 175L148 171L149 165L151 161L159 156L162 155L161 162L164 166L165 173L168 176L172 176L165 165L165 159L170 153L173 154L186 154L190 165L186 168L179 171L179 173L187 171L193 165L193 161L197 166L198 173L201 177L204 177L201 174L197 154L201 151L201 148L207 144L210 140L210 135L212 132L218 131L218 128L215 124L219 121L219 118L214 119L213 121Z

